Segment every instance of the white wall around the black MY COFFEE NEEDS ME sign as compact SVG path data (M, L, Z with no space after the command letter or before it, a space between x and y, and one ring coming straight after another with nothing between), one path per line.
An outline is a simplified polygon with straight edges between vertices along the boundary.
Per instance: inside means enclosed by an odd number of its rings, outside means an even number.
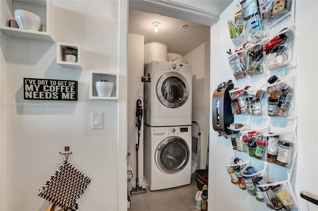
M77 80L78 101L58 102L63 107L0 108L0 210L45 210L48 201L37 193L62 163L59 152L65 146L73 151L70 162L91 179L79 198L79 210L125 210L126 204L119 200L127 197L127 50L121 46L127 42L127 3L58 0L55 4L56 41L82 45L83 69L56 64L56 43L1 34L6 57L1 53L0 103L47 103L23 100L23 77ZM126 21L120 19L125 17ZM90 69L120 72L121 99L89 100ZM90 129L90 115L95 111L103 112L103 129Z

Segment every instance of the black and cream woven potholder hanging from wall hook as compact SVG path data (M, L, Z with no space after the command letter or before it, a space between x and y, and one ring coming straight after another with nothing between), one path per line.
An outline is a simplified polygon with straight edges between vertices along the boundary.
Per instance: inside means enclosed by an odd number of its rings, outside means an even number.
M50 202L46 211L55 211L59 206L65 211L78 210L77 199L87 188L90 179L76 169L70 162L69 147L65 147L63 164L55 171L49 180L40 188L38 196Z

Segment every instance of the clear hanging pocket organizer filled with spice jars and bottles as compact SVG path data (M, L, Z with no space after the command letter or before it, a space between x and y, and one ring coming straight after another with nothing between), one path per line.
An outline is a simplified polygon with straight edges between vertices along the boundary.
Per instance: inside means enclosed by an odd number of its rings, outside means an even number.
M269 209L297 211L295 2L239 3L228 21L236 51L227 52L235 81L228 127L234 155L226 169L233 184Z

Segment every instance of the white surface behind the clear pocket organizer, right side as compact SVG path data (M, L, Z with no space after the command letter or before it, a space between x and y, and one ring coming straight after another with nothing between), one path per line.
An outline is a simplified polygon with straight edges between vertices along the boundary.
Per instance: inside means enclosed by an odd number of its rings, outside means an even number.
M228 49L233 44L229 38L227 20L233 16L237 1L233 2L221 15L218 23L211 27L211 96L217 86L233 79L227 61ZM317 199L318 190L318 143L316 138L318 128L317 112L317 51L308 53L307 49L318 47L317 27L305 24L310 14L312 20L318 20L318 2L315 0L296 0L296 49L297 49L297 106L298 106L298 158L295 165L297 172L295 195L301 211L316 211L317 206L300 198L299 192L308 191ZM317 25L317 24L316 24ZM211 98L212 99L212 98ZM211 106L212 109L212 106ZM210 110L211 112L211 110ZM211 112L212 113L212 112ZM212 125L212 119L210 120ZM265 203L256 201L248 194L234 187L226 171L225 163L233 155L230 140L218 137L211 128L210 162L209 162L209 210L268 210ZM229 203L231 202L231 203Z

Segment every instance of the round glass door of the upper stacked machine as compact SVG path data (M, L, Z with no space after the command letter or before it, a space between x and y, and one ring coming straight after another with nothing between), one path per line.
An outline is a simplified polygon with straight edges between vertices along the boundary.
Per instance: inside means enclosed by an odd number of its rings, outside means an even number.
M157 97L162 105L177 108L185 104L190 95L190 87L183 75L167 72L157 83Z

